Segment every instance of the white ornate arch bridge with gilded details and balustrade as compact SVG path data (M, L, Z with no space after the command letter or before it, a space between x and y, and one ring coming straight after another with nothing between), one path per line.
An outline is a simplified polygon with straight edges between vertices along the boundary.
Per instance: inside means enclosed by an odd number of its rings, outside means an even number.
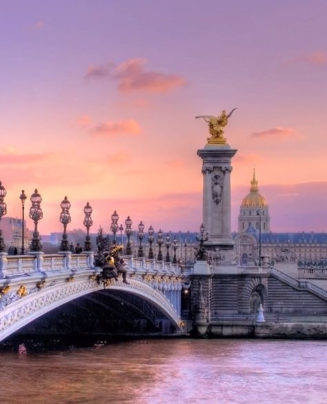
M9 256L0 252L0 341L41 318L46 313L97 291L120 291L121 304L134 305L128 296L139 297L137 309L145 318L158 322L151 307L169 320L175 332L184 331L181 320L181 289L184 273L180 266L153 259L123 257L128 269L128 284L108 280L99 282L102 268L94 265L92 251L81 254L60 252L46 255ZM104 290L103 290L104 289Z

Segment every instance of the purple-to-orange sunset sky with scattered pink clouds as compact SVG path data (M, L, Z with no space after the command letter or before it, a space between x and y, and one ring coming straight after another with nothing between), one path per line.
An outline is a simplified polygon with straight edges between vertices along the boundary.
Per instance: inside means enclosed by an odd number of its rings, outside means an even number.
M68 230L89 201L92 232L114 210L133 228L197 231L208 129L195 116L237 107L232 230L255 167L271 230L327 231L326 0L0 4L7 216L37 188L41 234L62 230L64 196Z

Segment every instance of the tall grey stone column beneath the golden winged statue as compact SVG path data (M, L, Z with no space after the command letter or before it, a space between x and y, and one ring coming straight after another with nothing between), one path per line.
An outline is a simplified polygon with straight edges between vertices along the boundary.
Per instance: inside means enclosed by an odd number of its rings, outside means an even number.
M237 150L227 143L208 143L199 149L204 175L203 223L209 240L209 250L232 250L234 243L230 231L230 166Z

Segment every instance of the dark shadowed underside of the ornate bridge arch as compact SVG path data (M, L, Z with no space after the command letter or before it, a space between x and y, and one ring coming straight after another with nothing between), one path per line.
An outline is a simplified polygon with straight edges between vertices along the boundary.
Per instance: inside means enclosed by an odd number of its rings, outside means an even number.
M175 331L166 315L139 295L115 289L70 300L30 322L17 336L137 336Z

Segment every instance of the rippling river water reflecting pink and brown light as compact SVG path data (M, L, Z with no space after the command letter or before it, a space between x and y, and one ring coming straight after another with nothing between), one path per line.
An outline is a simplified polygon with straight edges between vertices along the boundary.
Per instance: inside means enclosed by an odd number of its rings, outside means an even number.
M1 401L327 403L327 341L164 339L0 352Z

